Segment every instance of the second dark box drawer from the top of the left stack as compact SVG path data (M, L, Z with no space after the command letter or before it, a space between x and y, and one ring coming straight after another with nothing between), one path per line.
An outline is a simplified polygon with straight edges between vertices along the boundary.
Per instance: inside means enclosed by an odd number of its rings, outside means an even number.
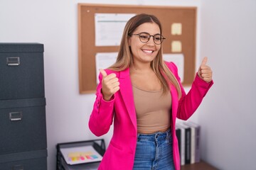
M0 101L0 154L46 149L46 99Z

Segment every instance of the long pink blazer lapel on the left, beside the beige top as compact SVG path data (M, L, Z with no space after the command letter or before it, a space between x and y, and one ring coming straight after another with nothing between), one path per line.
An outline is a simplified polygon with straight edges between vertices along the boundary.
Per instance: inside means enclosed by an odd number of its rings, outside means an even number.
M132 120L132 124L134 125L134 128L137 129L137 118L136 118L136 111L134 106L134 96L132 92L132 81L129 77L129 68L120 72L119 83L120 83L119 91L122 94L124 105L127 108L129 117Z

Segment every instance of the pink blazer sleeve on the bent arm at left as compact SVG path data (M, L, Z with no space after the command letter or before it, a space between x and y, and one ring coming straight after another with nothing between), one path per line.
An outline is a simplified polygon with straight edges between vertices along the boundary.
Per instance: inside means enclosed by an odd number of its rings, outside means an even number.
M96 136L105 135L110 130L114 116L114 97L105 101L102 96L102 75L99 75L100 84L97 86L96 99L89 119L89 128Z

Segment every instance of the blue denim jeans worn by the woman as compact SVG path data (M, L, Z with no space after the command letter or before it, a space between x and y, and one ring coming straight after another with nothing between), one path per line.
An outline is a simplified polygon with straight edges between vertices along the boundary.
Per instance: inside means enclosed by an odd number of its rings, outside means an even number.
M171 130L138 134L133 170L175 170Z

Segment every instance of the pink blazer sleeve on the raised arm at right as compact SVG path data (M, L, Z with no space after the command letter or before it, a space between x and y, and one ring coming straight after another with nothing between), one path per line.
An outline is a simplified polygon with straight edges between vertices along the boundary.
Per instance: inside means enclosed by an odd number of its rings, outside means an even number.
M196 111L198 106L200 106L210 87L213 86L213 80L209 83L203 81L196 73L191 89L188 91L188 94L186 94L183 86L181 85L181 79L178 77L178 69L176 65L171 62L169 63L169 68L171 69L171 72L174 73L174 76L181 86L181 98L178 101L177 118L181 120L188 120L188 118L190 118Z

